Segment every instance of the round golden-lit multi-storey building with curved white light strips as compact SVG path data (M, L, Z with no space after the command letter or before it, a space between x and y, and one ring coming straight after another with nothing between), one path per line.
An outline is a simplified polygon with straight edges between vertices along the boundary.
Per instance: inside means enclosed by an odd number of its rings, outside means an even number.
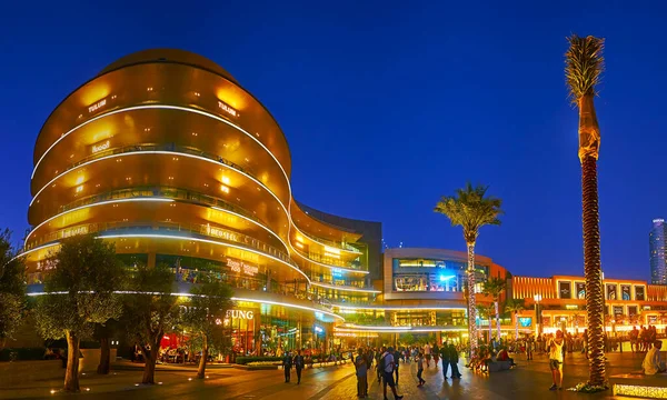
M33 164L31 283L63 238L93 233L128 263L167 263L181 283L215 274L241 306L263 307L262 321L292 316L310 331L342 319L328 303L378 292L364 232L295 201L278 122L201 56L155 49L111 63L49 116Z

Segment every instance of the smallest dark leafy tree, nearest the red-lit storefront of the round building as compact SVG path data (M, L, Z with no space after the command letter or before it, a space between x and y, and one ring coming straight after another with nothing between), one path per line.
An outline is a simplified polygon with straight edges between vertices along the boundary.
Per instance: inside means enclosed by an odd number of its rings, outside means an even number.
M231 301L233 293L229 286L212 279L193 286L190 293L192 297L183 314L183 327L192 334L198 336L201 341L201 359L197 378L203 379L209 347L215 344L215 337L220 337L216 333L223 329L222 321L227 317L227 311L233 306L233 301Z

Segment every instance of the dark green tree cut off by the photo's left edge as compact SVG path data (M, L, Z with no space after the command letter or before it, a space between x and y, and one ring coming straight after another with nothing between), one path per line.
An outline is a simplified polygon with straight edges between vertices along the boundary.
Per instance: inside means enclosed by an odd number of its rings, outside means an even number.
M21 323L26 306L26 266L11 246L11 232L0 233L0 350Z

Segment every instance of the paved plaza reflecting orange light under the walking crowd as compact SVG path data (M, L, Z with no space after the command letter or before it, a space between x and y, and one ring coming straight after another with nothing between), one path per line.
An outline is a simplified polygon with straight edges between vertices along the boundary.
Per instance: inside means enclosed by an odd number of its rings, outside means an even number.
M608 373L615 376L637 371L643 354L611 353L608 356ZM427 383L418 388L415 363L401 363L399 370L399 392L405 399L610 399L611 391L597 394L583 394L563 390L551 392L550 372L546 357L526 361L524 356L516 359L518 367L489 374L474 373L462 367L462 379L447 379L444 382L441 367L425 370ZM243 371L233 368L211 368L205 381L195 379L195 369L160 367L156 372L153 387L136 386L141 378L138 368L115 371L107 377L87 374L81 379L81 388L90 388L81 394L50 393L59 389L62 381L39 381L23 387L2 388L0 398L89 398L89 399L355 399L357 394L355 369L350 363L338 367L313 368L303 372L301 384L285 383L281 370ZM369 398L382 399L381 386L374 374L369 380ZM581 354L567 354L565 362L565 388L585 381L586 359ZM190 380L191 379L191 380ZM388 396L392 399L392 396Z

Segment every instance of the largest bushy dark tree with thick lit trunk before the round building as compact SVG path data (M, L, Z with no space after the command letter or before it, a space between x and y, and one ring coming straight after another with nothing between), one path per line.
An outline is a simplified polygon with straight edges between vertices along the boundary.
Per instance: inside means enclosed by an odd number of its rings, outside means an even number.
M113 244L92 236L62 240L47 262L46 294L39 297L37 326L47 339L67 339L64 390L79 391L79 344L92 336L94 323L106 323L122 311L120 289L123 267Z

